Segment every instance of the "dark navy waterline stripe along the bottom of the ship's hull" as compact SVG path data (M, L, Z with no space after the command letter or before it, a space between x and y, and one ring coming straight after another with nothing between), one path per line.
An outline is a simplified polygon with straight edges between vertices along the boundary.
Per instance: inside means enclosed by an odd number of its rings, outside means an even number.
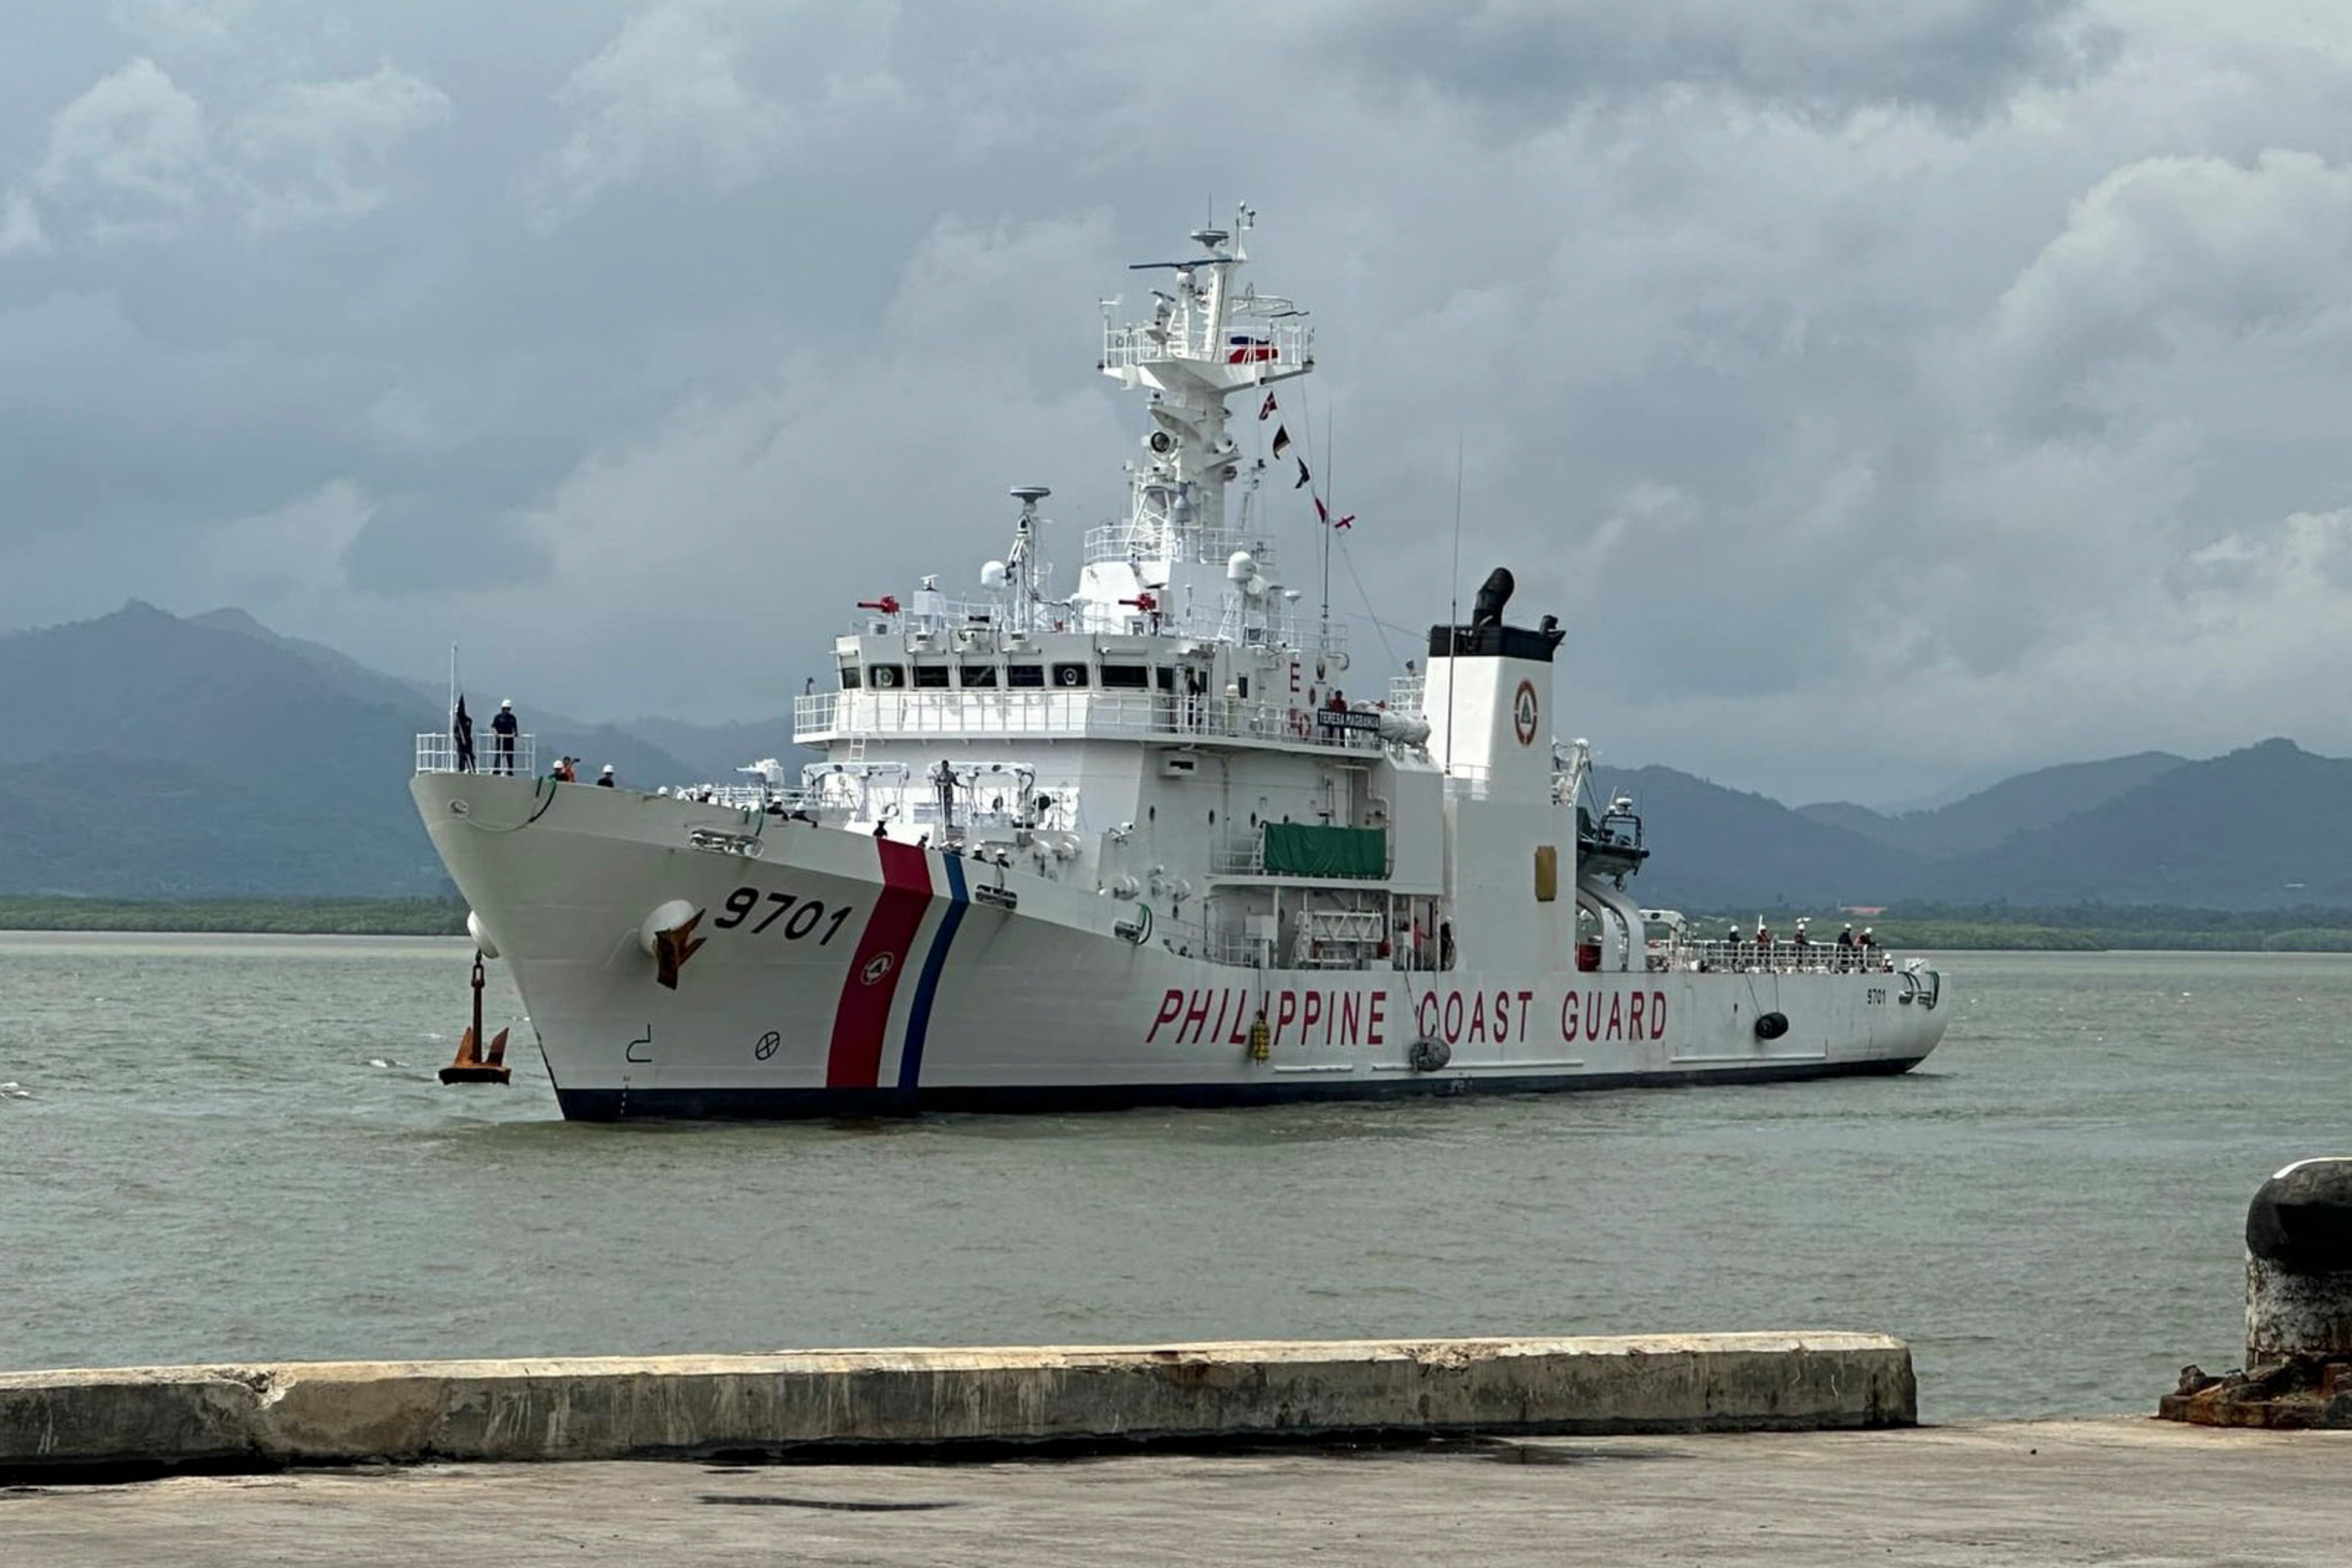
M1562 1093L1597 1088L1663 1088L1698 1084L1773 1084L1910 1072L1919 1058L1863 1063L1755 1063L1743 1067L1693 1067L1686 1072L1609 1072L1479 1077L1416 1074L1409 1079L1331 1081L1237 1081L1237 1084L1023 1084L946 1088L557 1088L555 1100L574 1121L616 1121L623 1114L673 1119L800 1119L800 1117L913 1117L917 1112L1089 1112L1143 1105L1289 1105L1298 1100L1390 1100L1461 1093Z

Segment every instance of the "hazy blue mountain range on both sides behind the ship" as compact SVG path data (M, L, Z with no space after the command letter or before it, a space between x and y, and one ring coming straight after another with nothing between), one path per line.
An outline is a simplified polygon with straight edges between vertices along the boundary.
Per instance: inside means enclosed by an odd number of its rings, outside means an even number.
M757 724L593 724L529 693L473 696L487 743L515 696L541 759L626 783L811 757ZM111 616L0 637L0 893L440 896L407 797L447 691L245 611ZM1644 816L1644 905L1788 910L1898 900L2218 910L2352 905L2352 762L2291 741L2211 759L2140 752L2006 778L1933 811L1783 806L1668 766L1597 766Z

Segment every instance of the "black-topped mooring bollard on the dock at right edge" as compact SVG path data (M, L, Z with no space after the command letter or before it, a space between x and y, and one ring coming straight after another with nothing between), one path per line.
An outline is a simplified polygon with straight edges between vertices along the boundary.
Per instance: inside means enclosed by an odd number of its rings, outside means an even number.
M2246 1208L2246 1371L2180 1371L2157 1415L2352 1427L2352 1159L2298 1159Z

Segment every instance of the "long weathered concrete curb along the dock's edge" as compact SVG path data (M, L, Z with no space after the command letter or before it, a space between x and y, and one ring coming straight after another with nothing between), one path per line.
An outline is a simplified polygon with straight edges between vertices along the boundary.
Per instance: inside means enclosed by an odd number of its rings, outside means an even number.
M861 1349L0 1375L0 1474L1917 1420L1882 1335Z

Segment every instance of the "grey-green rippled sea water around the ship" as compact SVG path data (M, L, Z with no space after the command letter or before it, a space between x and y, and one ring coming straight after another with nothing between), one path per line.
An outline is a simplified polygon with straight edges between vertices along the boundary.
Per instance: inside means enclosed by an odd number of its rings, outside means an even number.
M1851 1328L2145 1410L2352 1152L2352 957L1940 954L1896 1079L764 1126L564 1124L499 964L440 1086L468 957L0 936L0 1366Z

